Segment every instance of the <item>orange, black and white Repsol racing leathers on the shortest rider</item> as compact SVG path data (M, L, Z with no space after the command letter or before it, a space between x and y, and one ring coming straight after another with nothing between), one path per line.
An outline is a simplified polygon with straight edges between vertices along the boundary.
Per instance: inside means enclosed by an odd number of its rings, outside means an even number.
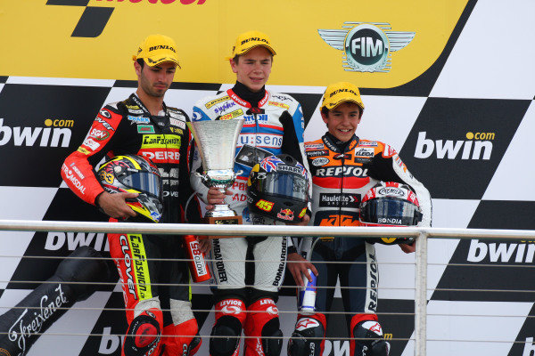
M379 181L408 184L416 192L424 214L419 226L431 226L429 191L408 172L390 145L360 140L356 135L349 142L339 142L326 133L320 140L306 142L305 150L312 174L311 221L315 226L360 225L360 200ZM388 345L383 341L375 315L379 278L374 245L364 239L333 237L315 238L313 242L305 239L303 244L307 242L311 251L304 247L301 254L307 255L318 271L316 314L298 316L289 354L323 353L320 340L307 341L306 338L325 337L325 312L331 309L333 287L340 278L342 302L351 333L350 355L387 355Z

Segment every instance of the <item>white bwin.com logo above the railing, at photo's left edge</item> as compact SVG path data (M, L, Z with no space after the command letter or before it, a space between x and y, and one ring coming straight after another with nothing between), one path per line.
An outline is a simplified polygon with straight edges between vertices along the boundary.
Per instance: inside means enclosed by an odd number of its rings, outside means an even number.
M50 120L45 120L45 125L50 124ZM13 139L15 146L34 146L37 144L41 147L69 147L70 128L59 127L10 127L4 125L4 118L0 118L0 146L4 146Z

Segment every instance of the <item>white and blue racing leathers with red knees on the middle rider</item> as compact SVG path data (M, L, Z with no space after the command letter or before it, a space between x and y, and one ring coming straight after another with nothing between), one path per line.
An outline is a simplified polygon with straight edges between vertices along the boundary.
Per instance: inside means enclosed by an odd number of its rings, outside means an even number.
M238 118L243 118L244 124L235 150L237 178L229 188L232 196L226 200L243 216L243 223L275 224L273 220L249 212L247 179L252 166L280 153L289 154L307 167L300 103L290 95L269 93L264 88L252 93L237 82L232 89L204 98L193 107L193 121ZM193 162L193 170L196 169L202 173L198 154ZM208 188L196 174L192 174L191 180L193 189L206 202ZM210 339L212 356L238 352L242 329L246 336L254 336L245 340L246 355L277 356L280 353L282 340L263 336L282 336L275 302L284 278L286 249L286 239L280 237L212 240L210 259L217 283L213 291L216 323L212 329L215 337ZM254 260L254 263L245 260Z

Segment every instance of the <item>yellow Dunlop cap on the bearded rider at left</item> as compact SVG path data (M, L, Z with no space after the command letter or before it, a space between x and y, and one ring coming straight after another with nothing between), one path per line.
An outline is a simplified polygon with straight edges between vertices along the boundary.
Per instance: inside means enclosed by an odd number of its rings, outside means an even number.
M178 63L177 44L169 36L151 35L147 36L137 48L137 53L132 56L132 60L143 59L149 66L157 66L164 61Z

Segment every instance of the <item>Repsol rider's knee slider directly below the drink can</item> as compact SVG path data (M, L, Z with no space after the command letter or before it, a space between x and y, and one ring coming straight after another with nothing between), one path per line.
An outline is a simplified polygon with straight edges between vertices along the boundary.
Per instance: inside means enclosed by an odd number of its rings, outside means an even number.
M288 340L288 355L320 356L324 334L324 327L318 320L301 318L295 325L292 337Z

